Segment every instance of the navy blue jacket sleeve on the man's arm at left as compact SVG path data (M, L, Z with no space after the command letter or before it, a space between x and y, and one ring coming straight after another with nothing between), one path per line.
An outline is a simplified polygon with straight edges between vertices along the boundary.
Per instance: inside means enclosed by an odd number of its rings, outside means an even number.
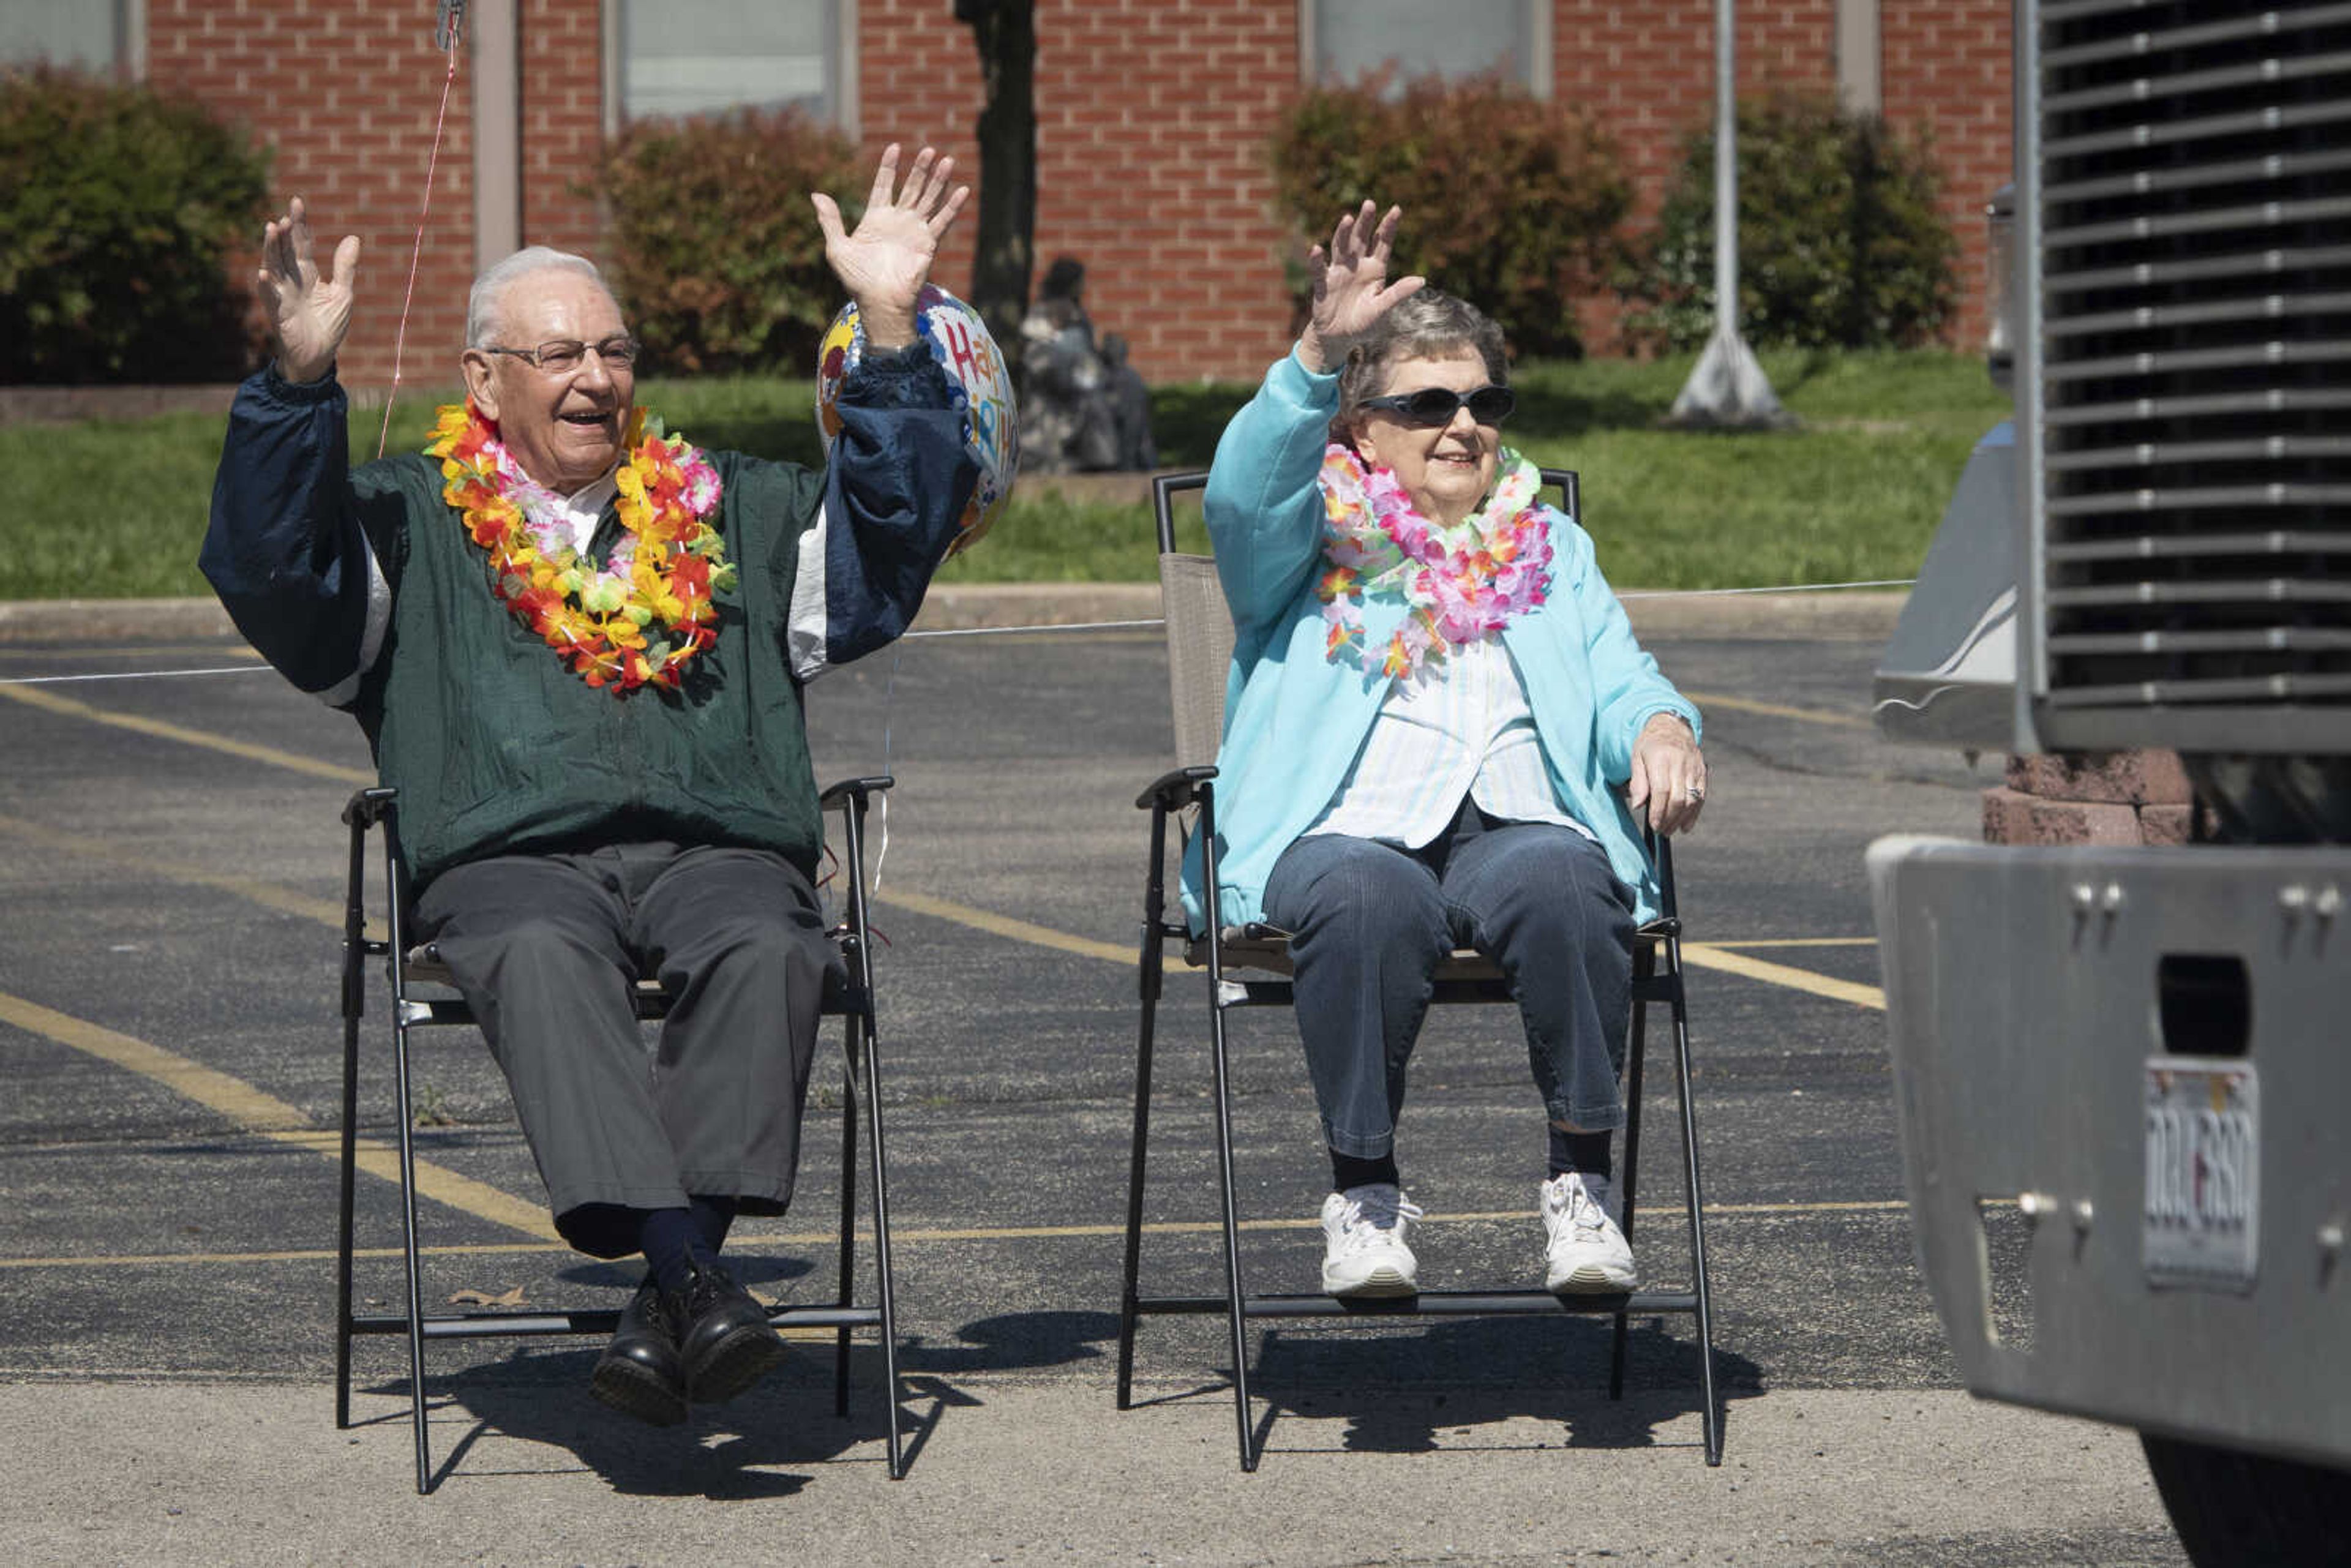
M383 646L393 578L350 491L343 388L263 369L237 388L197 567L277 670L343 708ZM397 541L381 541L386 552Z

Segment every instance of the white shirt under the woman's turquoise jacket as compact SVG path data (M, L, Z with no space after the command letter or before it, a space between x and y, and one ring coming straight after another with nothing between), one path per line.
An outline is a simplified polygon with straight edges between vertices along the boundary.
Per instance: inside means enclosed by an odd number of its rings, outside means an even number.
M1448 646L1418 679L1389 682L1354 769L1307 835L1420 849L1453 825L1465 795L1486 816L1592 837L1559 809L1526 684L1500 637Z

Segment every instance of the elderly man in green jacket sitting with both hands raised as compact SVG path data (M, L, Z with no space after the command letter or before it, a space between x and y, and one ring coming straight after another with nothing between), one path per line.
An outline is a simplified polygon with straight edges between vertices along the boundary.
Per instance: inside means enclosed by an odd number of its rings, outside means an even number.
M719 1265L783 1213L835 952L802 682L912 618L976 482L915 303L966 190L882 155L825 259L870 353L825 473L647 437L637 343L595 266L527 249L473 289L468 404L357 470L334 357L357 237L263 237L275 364L237 390L202 569L296 686L360 719L418 933L505 1072L555 1227L647 1276L592 1392L656 1425L781 1356ZM672 1009L647 1058L632 976Z

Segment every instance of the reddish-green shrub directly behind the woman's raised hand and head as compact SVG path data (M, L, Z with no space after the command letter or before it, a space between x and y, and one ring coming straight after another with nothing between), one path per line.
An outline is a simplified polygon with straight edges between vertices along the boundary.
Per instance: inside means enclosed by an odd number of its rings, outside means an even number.
M1479 306L1523 355L1582 353L1573 301L1608 275L1632 188L1608 136L1495 80L1385 75L1298 96L1272 136L1281 214L1328 242L1340 214L1401 207L1394 273ZM1293 275L1305 299L1305 273Z

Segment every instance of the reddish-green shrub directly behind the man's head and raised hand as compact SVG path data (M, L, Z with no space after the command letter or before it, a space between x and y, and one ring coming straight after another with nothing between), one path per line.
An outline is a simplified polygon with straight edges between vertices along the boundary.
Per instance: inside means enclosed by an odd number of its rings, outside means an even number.
M856 148L797 110L630 125L592 193L611 212L609 277L654 369L816 369L842 306L811 190L856 223ZM858 200L851 200L851 197Z

